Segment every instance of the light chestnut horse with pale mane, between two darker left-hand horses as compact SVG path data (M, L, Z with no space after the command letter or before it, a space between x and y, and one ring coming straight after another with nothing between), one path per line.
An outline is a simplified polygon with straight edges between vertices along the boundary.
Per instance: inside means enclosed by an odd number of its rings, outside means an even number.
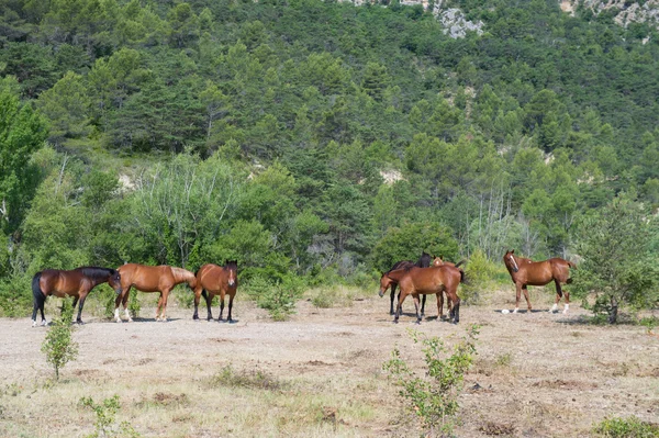
M121 274L121 294L114 300L114 319L118 323L121 323L121 317L119 316L119 305L121 303L123 303L126 319L129 322L133 321L127 308L132 287L142 292L160 292L158 307L156 308L156 321L167 321L167 297L174 287L187 282L188 287L194 290L197 285L197 278L192 272L167 265L144 266L126 263L121 266L118 271Z

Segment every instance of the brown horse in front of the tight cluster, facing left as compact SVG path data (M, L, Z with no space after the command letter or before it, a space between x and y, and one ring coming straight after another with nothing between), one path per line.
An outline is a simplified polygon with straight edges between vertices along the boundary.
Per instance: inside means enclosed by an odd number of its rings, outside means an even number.
M414 299L416 308L416 324L421 324L421 315L418 314L418 295L437 294L437 311L440 321L442 306L444 304L443 292L446 293L451 302L449 319L457 324L460 321L460 297L458 296L458 285L460 284L460 272L455 267L438 266L429 268L412 267L407 269L396 269L387 272L386 277L398 282L401 294L399 297L398 307L393 322L398 324L399 316L402 310L402 303L407 295ZM386 291L384 283L380 282L380 296Z

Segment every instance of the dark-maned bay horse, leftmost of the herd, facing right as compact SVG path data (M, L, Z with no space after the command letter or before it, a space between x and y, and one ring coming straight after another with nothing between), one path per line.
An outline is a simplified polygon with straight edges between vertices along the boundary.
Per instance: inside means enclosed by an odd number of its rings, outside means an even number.
M72 296L74 308L78 301L78 316L76 323L82 323L82 307L89 292L101 283L110 284L116 293L121 292L120 273L115 269L98 267L80 267L72 270L44 269L36 272L32 278L32 295L34 296L34 308L32 311L32 326L36 326L36 311L41 311L42 325L46 325L44 304L46 297Z

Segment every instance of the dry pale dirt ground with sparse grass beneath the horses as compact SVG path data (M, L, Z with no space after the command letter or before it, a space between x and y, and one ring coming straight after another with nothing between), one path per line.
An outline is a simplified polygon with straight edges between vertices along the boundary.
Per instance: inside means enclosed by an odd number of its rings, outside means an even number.
M155 322L153 308L124 324L86 312L74 335L78 358L57 383L40 351L46 328L3 318L0 436L89 436L99 429L79 400L116 394L114 425L126 422L144 437L418 437L382 362L399 346L423 373L407 329L450 344L472 323L481 326L478 356L456 436L587 437L606 416L659 419L657 336L638 325L585 324L578 303L550 314L550 296L537 293L538 311L502 314L513 292L493 295L462 306L457 326L416 326L412 313L394 325L388 299L375 293L332 308L301 301L288 322L247 300L236 302L232 325L194 322L176 303L167 323Z

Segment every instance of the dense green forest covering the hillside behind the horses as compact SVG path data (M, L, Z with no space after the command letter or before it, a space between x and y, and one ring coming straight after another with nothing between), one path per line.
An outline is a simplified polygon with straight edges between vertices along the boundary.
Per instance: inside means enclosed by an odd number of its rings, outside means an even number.
M510 248L656 306L657 29L448 4L484 32L396 1L3 1L1 313L45 268L235 259L297 291Z

